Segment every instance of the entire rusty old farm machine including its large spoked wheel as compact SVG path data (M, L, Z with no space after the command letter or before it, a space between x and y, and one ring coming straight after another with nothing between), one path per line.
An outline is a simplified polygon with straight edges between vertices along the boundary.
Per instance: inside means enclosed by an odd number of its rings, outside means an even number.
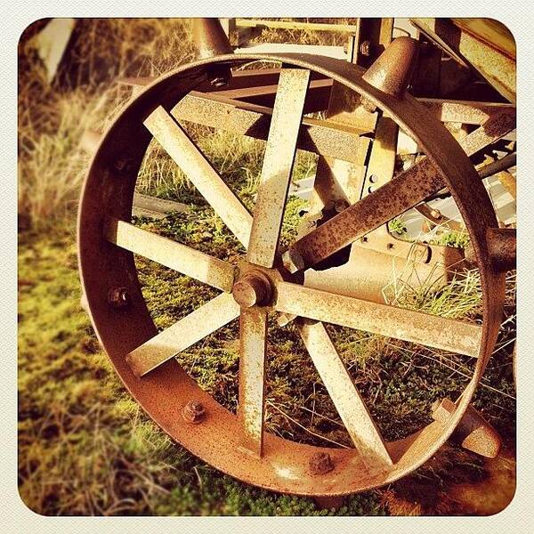
M153 80L128 80L134 95L95 151L78 218L95 331L142 409L183 447L241 481L336 498L400 479L450 437L482 456L498 455L500 437L471 401L498 338L506 272L515 269L514 222L496 211L484 182L497 177L514 198L514 42L494 20L412 22L415 38L393 38L392 19L360 19L347 30L345 57L333 58L253 47L234 53L232 40L257 21L226 22L224 32L219 20L194 20L198 60ZM252 210L199 149L189 124L266 143ZM239 239L239 258L221 259L132 223L151 142ZM317 154L317 169L295 239L282 247L297 150ZM457 216L436 207L445 199ZM423 227L417 239L392 231L391 222L407 213ZM468 245L425 238L443 229L464 232ZM219 294L158 331L134 255ZM407 269L411 284L434 286L477 271L480 320L392 303L384 288L394 271ZM301 337L352 447L266 431L269 318ZM175 356L238 319L239 405L231 410ZM329 325L464 355L473 373L457 399L435 402L428 425L386 441Z

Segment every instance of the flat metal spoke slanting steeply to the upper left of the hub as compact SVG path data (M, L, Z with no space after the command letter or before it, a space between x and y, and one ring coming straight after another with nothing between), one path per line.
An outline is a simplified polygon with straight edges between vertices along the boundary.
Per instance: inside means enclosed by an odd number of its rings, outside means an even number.
M192 142L182 126L159 106L143 123L233 234L248 247L252 216Z

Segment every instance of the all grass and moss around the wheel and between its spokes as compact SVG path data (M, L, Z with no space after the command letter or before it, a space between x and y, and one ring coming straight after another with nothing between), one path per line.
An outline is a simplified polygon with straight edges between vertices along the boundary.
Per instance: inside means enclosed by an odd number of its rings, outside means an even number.
M448 514L447 493L458 482L480 481L480 458L447 445L409 477L324 510L309 498L257 490L214 470L174 444L125 392L101 352L79 305L72 214L88 157L86 128L101 129L125 94L109 79L157 75L192 57L187 24L169 20L84 20L75 36L76 61L47 87L29 46L20 44L19 240L19 487L40 514L374 515ZM275 32L276 33L276 32ZM264 40L325 44L316 34L265 32ZM309 32L308 32L309 33ZM337 38L337 37L336 37ZM106 46L101 46L105 43ZM338 44L333 42L332 44ZM175 53L178 51L178 53ZM95 66L98 64L98 68ZM59 84L59 83L58 83ZM104 89L105 87L105 89ZM200 148L243 202L254 205L264 143L187 125ZM316 158L297 155L293 179L314 174ZM198 250L234 261L243 252L188 179L154 143L138 189L192 206L187 214L135 224ZM282 243L295 237L303 201L291 198ZM24 216L22 216L24 215ZM402 232L400 221L392 230ZM461 237L450 236L450 245ZM158 328L169 327L214 290L136 258L142 291ZM510 280L514 287L514 279ZM444 288L395 287L394 302L451 318L480 319L476 272ZM514 291L495 354L475 407L514 438ZM381 336L328 326L355 384L384 436L398 439L429 422L430 406L455 398L473 360ZM238 324L234 321L179 356L180 363L228 409L237 406ZM271 321L266 425L271 433L317 445L350 440L292 326ZM199 362L202 362L200 365Z

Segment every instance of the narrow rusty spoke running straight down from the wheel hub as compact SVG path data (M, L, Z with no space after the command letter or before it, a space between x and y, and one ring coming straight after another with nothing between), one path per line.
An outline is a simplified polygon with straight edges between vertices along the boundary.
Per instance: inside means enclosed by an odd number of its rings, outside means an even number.
M267 311L242 308L239 321L239 421L243 446L257 454L263 452L263 410L265 391L265 343Z

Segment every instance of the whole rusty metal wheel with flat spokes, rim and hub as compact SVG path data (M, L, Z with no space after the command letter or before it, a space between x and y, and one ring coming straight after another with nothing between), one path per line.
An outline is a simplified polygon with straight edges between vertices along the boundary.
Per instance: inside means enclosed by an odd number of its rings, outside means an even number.
M258 60L279 61L283 68L257 201L250 214L174 118L174 109L213 77L214 70ZM175 441L223 472L263 488L339 496L410 473L454 431L498 335L505 273L494 262L498 223L490 199L465 150L443 125L408 94L395 93L377 81L383 68L378 64L366 76L344 61L290 54L227 55L183 66L125 107L104 135L85 181L78 219L80 275L93 326L117 373ZM317 139L312 123L303 124L312 73L333 78L356 101L363 99L368 108L391 117L426 158L280 251L295 149L310 147ZM237 267L130 224L136 179L152 137L247 248ZM471 141L474 146L476 139ZM443 187L449 188L463 215L480 270L481 326L304 286L303 271ZM205 282L221 294L158 333L142 296L133 253ZM296 316L303 343L352 437L352 449L316 447L264 432L269 313ZM238 317L239 409L234 415L202 390L174 356ZM386 442L323 323L466 354L477 358L476 367L450 417L400 441Z

